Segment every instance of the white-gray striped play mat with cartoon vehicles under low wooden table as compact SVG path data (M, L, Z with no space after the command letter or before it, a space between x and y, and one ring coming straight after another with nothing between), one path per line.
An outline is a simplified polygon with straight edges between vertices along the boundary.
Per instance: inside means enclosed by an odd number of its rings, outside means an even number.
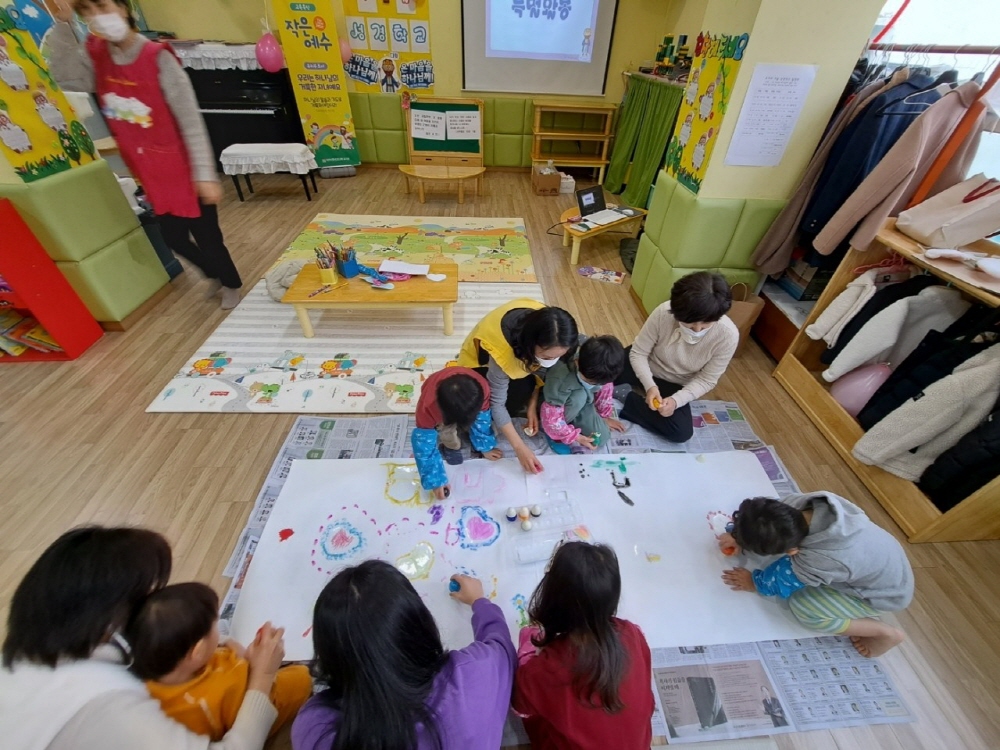
M486 313L521 297L543 301L538 284L461 284L455 333L438 308L311 313L307 339L291 305L263 281L243 298L173 378L149 412L392 414L416 409L420 384L455 360Z

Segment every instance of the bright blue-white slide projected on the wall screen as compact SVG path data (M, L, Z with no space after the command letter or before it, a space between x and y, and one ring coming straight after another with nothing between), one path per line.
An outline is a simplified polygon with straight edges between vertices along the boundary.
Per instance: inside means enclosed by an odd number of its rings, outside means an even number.
M486 0L486 57L589 63L600 0Z

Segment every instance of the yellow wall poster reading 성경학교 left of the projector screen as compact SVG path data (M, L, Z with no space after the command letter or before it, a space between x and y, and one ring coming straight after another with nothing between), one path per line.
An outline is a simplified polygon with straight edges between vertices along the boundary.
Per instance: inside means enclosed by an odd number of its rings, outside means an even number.
M344 13L356 91L433 93L430 0L344 0Z

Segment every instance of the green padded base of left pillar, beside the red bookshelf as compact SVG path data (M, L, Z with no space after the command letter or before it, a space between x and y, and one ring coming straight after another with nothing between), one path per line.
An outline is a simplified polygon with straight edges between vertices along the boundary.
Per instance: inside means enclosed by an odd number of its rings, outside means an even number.
M170 279L103 159L0 184L98 321L120 323Z

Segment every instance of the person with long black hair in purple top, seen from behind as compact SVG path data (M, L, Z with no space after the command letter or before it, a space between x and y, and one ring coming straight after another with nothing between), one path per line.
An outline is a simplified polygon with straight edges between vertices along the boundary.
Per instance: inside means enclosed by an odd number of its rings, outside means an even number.
M299 712L295 750L499 747L516 654L500 608L475 578L452 597L472 606L475 641L448 652L406 577L369 560L338 573L313 611L314 672L328 687Z

